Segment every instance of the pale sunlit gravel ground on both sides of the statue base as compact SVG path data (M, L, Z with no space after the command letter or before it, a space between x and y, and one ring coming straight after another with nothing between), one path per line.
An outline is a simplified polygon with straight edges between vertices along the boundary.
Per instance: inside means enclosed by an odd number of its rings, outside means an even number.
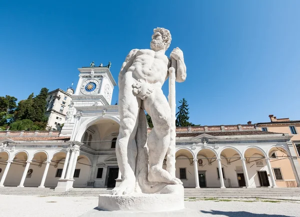
M0 195L0 217L78 217L94 209L97 202L97 198L86 197ZM300 216L300 201L190 198L184 203L186 208L199 211L203 217Z

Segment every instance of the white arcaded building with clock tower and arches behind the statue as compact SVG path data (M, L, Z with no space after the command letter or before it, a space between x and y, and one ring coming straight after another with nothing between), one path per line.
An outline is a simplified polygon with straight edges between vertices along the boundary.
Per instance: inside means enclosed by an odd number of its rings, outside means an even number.
M67 191L121 182L120 119L118 106L110 105L116 83L107 67L78 70L60 133L0 132L0 187ZM252 124L176 128L176 177L185 188L300 187L291 138Z

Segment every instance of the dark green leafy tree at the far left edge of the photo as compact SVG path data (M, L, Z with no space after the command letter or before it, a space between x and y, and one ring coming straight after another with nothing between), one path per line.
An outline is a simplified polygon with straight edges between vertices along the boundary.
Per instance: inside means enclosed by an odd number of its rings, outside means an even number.
M9 95L0 97L0 126L7 125L12 121L16 100L15 97Z

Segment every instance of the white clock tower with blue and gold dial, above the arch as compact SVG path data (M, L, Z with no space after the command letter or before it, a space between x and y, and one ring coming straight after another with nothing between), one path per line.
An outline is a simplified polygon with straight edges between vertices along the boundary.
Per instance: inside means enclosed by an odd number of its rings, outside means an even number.
M83 113L87 116L97 115L103 109L102 107L110 106L113 87L116 83L109 68L109 64L78 68L79 80L71 96L72 100L60 136L71 136L80 124L76 120L83 116Z

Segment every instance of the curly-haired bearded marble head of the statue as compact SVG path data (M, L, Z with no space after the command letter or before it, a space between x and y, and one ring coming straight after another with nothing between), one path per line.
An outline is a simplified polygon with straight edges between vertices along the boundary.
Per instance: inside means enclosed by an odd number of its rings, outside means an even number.
M165 28L154 28L150 47L154 51L167 50L171 43L170 31Z

